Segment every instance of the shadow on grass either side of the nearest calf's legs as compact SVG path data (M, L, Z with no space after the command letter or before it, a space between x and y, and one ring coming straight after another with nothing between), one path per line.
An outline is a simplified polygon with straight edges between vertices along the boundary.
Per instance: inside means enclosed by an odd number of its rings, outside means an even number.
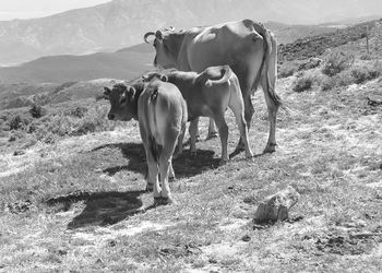
M103 149L119 149L127 165L112 166L103 169L103 173L114 176L121 170L130 170L146 175L147 164L146 155L142 143L111 143L105 144L92 150L96 152ZM203 171L215 169L219 166L219 158L214 158L214 151L198 150L196 156L190 156L190 150L184 149L182 154L172 159L172 167L177 178L188 178L202 174Z

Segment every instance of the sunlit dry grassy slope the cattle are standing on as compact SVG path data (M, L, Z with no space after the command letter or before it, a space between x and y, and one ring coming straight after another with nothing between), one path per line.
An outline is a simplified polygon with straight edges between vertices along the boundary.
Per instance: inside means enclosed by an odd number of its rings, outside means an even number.
M275 153L262 154L268 122L258 92L253 161L239 154L219 166L218 139L198 143L195 158L186 147L166 206L144 191L138 123L107 123L108 102L86 103L102 130L77 133L72 121L32 144L2 132L0 272L381 272L382 81L323 91L314 78L294 91L321 69L278 81L291 111L279 111ZM227 119L232 152L239 133ZM301 195L289 221L255 225L259 201L287 186Z

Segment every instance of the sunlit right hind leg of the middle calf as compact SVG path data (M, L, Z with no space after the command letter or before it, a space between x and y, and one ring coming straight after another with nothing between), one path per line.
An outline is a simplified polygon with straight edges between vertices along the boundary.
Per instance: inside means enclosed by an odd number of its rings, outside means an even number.
M235 118L236 118L236 123L239 127L240 131L240 138L244 144L246 149L246 157L247 158L252 158L253 153L251 151L251 147L248 142L248 127L247 127L247 121L244 119L244 104L241 97L241 94L232 94L231 99L229 102L229 108L232 110Z

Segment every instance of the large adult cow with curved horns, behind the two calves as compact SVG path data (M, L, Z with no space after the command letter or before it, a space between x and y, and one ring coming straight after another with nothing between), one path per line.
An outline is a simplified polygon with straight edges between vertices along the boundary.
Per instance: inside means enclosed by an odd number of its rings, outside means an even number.
M251 20L192 27L186 31L147 32L154 36L154 66L202 72L207 67L228 64L239 79L244 102L244 118L250 127L254 112L251 95L262 86L268 110L270 135L265 153L275 152L276 115L282 99L275 92L277 44L273 34ZM237 146L243 149L243 141Z

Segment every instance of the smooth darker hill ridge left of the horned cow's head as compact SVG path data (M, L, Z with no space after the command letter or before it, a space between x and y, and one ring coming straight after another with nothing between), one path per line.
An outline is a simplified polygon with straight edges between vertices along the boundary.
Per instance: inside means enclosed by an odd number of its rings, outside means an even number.
M99 78L131 79L152 67L154 50L141 44L112 54L41 57L17 67L0 68L3 83L63 83Z

